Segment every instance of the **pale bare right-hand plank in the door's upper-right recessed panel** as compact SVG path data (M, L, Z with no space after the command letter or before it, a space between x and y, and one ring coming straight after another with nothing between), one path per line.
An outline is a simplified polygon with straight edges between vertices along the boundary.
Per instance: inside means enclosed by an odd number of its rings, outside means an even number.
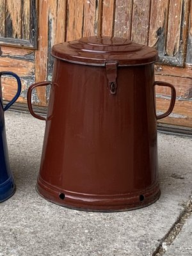
M182 19L183 0L170 0L170 12L168 13L168 33L166 52L168 56L175 56L180 45L180 26Z

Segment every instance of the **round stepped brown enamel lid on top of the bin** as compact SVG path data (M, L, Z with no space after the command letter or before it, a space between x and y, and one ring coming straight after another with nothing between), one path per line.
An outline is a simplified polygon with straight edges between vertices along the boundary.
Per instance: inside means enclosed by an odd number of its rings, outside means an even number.
M63 42L54 45L51 54L60 60L94 66L104 66L106 61L116 61L121 66L147 65L159 59L156 49L115 36L90 36Z

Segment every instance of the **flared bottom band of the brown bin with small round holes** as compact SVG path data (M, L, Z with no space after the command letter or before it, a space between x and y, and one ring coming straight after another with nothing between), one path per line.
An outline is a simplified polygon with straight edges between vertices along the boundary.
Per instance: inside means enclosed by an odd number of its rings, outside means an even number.
M118 212L153 204L161 194L159 182L150 188L120 195L88 195L60 189L38 177L36 190L46 200L81 211Z

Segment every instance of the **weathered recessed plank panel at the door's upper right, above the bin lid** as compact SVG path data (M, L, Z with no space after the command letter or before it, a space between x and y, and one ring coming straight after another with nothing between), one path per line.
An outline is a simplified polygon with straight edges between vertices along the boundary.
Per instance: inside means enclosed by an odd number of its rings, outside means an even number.
M184 65L190 0L152 0L150 46L159 51L161 63Z

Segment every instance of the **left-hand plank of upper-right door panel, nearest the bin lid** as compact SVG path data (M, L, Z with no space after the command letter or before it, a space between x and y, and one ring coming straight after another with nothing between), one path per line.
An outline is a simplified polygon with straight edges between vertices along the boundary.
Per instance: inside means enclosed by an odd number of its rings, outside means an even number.
M151 15L148 45L150 47L156 47L160 55L165 54L166 34L168 26L168 10L169 1L152 0L150 10Z

